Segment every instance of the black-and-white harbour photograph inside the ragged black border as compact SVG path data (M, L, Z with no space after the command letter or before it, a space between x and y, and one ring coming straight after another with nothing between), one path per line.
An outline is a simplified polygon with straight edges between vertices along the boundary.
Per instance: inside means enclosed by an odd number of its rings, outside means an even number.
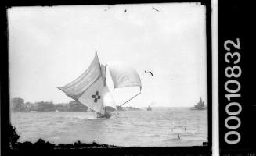
M192 147L208 140L206 6L7 9L19 142Z

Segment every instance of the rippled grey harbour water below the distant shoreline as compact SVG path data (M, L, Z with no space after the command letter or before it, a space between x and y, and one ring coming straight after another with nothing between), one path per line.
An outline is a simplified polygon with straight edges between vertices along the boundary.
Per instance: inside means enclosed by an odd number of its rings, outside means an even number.
M80 140L125 147L173 147L202 146L207 141L207 110L153 108L151 112L118 113L110 119L96 119L94 112L16 112L11 113L11 122L20 142L42 138L52 144Z

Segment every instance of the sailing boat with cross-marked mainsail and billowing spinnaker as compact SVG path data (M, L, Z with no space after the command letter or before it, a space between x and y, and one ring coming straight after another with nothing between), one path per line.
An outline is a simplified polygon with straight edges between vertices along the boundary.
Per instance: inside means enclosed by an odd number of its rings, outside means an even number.
M114 88L139 87L139 94L141 94L141 80L135 69L122 62L110 63L107 67ZM68 97L96 112L97 118L110 118L110 113L117 110L117 107L121 107L121 105L117 106L115 104L114 97L106 85L106 66L99 62L97 51L92 63L81 76L58 88ZM128 101L131 101L134 97ZM124 104L128 101L125 101Z

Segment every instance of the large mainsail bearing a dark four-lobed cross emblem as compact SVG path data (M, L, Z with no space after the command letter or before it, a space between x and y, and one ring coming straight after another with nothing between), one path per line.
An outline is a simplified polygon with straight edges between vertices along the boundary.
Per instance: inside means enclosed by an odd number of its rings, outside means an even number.
M91 65L81 76L59 89L93 111L103 114L103 88L105 85L101 70L96 53Z

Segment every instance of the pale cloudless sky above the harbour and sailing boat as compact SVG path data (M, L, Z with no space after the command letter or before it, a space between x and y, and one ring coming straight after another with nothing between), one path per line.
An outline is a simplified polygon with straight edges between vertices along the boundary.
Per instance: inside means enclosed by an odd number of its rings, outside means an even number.
M126 62L139 73L142 94L125 106L207 103L205 18L200 3L10 8L10 97L72 101L56 87L80 76L97 50L102 64ZM111 91L117 104L139 93Z

